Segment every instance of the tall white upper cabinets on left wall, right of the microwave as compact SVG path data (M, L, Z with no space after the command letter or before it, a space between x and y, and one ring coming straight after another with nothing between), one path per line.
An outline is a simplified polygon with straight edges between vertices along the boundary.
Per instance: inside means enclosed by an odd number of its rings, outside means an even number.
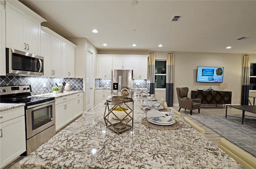
M45 77L74 77L75 47L54 31L41 27L41 56Z

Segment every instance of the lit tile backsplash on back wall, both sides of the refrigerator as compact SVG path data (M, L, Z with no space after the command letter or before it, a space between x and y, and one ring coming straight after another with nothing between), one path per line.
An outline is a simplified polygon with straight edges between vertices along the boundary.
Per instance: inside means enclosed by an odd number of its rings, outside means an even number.
M111 79L95 79L95 88L111 88ZM132 80L132 88L147 88L147 80Z

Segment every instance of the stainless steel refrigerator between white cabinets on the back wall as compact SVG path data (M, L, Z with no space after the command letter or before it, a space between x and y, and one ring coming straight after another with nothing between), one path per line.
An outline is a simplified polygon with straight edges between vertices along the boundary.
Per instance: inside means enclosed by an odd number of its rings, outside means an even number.
M120 92L123 86L132 89L133 70L111 70L111 94Z

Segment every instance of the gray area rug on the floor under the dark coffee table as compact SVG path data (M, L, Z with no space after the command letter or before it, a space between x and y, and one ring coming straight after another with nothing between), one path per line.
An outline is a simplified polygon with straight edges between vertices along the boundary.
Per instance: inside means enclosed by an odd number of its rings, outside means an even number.
M256 117L246 117L244 124L241 118L231 117L238 114L193 114L190 116L220 136L256 157Z

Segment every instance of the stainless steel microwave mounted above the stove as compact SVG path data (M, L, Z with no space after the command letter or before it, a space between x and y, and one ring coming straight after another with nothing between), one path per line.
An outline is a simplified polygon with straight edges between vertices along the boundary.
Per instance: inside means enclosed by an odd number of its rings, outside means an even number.
M6 48L6 75L44 75L44 57Z

